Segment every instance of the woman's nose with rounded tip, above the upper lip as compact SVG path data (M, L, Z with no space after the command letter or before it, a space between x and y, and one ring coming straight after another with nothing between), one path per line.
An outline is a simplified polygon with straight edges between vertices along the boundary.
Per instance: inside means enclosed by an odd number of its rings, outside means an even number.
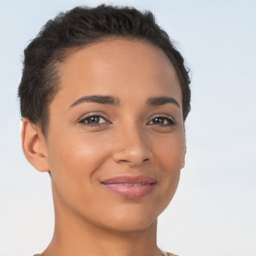
M153 153L145 132L138 127L128 127L115 137L112 158L115 162L136 166L150 162Z

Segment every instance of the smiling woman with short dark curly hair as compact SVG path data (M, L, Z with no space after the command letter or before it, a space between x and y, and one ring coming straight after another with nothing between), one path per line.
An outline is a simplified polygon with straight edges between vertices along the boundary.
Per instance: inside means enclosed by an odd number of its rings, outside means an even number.
M184 166L189 82L151 12L76 7L45 24L18 91L24 154L52 184L39 255L174 255L156 224Z

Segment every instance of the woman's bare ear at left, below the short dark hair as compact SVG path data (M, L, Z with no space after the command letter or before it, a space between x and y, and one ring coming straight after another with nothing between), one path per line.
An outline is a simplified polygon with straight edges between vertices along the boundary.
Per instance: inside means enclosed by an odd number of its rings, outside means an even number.
M22 119L21 140L26 159L38 171L49 171L45 138L37 125L27 118Z

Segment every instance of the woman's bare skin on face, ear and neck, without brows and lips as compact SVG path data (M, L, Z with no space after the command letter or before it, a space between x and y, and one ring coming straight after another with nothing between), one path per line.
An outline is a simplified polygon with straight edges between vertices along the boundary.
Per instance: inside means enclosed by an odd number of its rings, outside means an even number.
M26 118L21 132L28 161L51 176L55 228L42 255L161 255L157 216L174 195L185 156L182 95L171 62L145 42L109 39L71 53L59 72L47 140ZM110 95L119 104L70 107L88 95ZM160 96L179 107L146 104ZM86 125L88 114L104 118ZM154 189L130 199L100 183L124 174L153 177Z

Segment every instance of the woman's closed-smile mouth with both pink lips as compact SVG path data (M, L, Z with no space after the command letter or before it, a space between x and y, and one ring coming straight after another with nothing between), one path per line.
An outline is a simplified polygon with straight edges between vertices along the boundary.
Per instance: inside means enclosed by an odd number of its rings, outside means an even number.
M100 182L108 191L128 199L135 199L152 192L156 180L145 175L116 176Z

